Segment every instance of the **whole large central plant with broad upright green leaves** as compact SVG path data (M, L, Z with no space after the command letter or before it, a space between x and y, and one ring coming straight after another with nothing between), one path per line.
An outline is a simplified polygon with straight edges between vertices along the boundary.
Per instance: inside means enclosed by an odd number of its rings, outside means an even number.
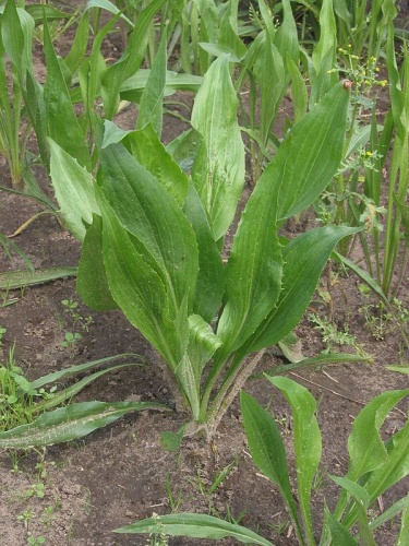
M241 212L229 252L245 167L228 56L204 76L192 129L167 149L160 123L122 131L106 122L94 177L49 142L56 197L83 241L79 294L93 309L122 309L156 347L191 414L181 435L213 434L265 347L300 321L335 245L356 232L279 236L337 171L348 102L339 83L294 123Z

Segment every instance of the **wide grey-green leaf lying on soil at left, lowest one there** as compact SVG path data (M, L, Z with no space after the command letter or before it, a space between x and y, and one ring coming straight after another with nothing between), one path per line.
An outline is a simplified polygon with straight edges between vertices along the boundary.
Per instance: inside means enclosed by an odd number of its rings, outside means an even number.
M46 412L29 425L0 432L0 449L53 446L89 435L129 412L167 410L155 402L80 402Z

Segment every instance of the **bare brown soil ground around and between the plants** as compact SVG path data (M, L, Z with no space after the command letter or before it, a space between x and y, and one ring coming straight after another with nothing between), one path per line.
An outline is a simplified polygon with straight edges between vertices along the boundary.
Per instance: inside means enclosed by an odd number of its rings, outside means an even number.
M285 112L281 114L285 116ZM117 121L123 127L132 127L133 109L124 111ZM179 129L177 121L169 118L165 128L166 138L170 140ZM1 168L1 183L9 185L5 167ZM43 183L48 187L47 180ZM37 204L28 199L1 193L0 230L13 233L38 210ZM291 229L299 228L297 224L291 226ZM79 261L77 241L52 216L43 216L31 224L16 242L36 268L76 265ZM22 262L19 259L9 261L0 253L0 271L20 268ZM312 307L322 314L332 314L339 329L347 327L357 336L358 343L374 355L374 363L326 366L318 371L303 370L297 377L290 376L308 387L320 402L317 417L324 446L321 480L313 500L317 527L324 499L330 508L336 502L338 491L328 474L342 475L347 470L346 441L354 416L376 394L408 387L405 376L385 368L402 359L407 361L408 355L401 351L399 334L392 330L382 341L373 337L360 310L363 300L358 284L353 276L339 277L332 287L330 306L316 296ZM120 401L139 396L172 405L169 384L155 365L155 352L119 311L94 313L81 305L81 313L93 319L89 330L82 332L83 339L74 353L61 347L64 332L73 331L72 321L61 301L76 300L74 280L60 280L10 296L21 299L13 306L0 307L0 327L7 328L3 358L15 344L16 361L31 379L73 364L134 352L151 360L152 365L105 376L77 400ZM407 282L400 298L408 306ZM305 355L316 355L322 351L321 337L306 319L298 328L298 335ZM280 364L272 349L257 371ZM272 403L292 460L291 418L287 404L266 381L250 381L245 390L264 405ZM389 415L386 436L404 425L406 414L407 406L401 404ZM19 453L15 455L19 459L17 470L13 468L9 453L0 453L0 543L23 546L27 544L28 533L32 533L45 536L49 546L145 545L146 537L143 535L116 535L112 530L149 517L153 512L169 513L172 503L176 503L179 511L242 518L242 524L257 530L277 545L297 544L277 488L257 474L251 461L238 401L219 426L215 438L216 450L204 440L188 440L178 452L165 452L159 444L159 434L164 430L176 431L182 423L183 416L175 413L128 415L81 441L53 446L39 452ZM36 468L38 463L41 464L41 477ZM232 471L216 492L212 496L201 492L199 476L209 487L217 473L230 463L233 463ZM39 479L45 484L45 497L28 496L27 491ZM400 483L380 499L377 509L386 509L393 500L405 496L408 485L408 479ZM52 511L48 518L46 509ZM19 519L24 512L32 513L26 523ZM378 533L377 544L393 544L397 529L396 522L386 525ZM210 543L171 538L169 544ZM220 544L237 543L225 539Z

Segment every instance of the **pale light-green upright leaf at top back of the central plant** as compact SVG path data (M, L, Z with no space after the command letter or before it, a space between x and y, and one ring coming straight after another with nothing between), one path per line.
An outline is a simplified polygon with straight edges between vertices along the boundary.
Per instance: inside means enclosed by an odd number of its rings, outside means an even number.
M222 56L205 74L192 111L192 127L204 139L192 178L215 240L230 226L244 185L244 145L237 106L229 60Z

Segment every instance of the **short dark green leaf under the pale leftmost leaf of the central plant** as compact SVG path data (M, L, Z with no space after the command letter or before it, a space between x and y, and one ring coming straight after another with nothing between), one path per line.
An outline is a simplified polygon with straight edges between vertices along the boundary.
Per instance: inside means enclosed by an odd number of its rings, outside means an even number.
M103 218L93 215L93 223L86 228L82 246L76 292L91 309L108 311L117 309L109 290L108 278L103 258Z

